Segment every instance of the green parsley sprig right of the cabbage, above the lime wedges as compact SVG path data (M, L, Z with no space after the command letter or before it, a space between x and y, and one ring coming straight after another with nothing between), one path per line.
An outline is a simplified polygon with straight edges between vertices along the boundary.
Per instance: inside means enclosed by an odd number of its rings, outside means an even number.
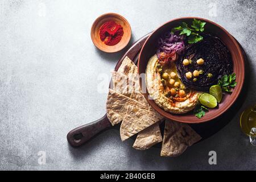
M237 86L236 73L222 76L220 80L218 80L218 85L221 86L224 92L232 93L232 88Z

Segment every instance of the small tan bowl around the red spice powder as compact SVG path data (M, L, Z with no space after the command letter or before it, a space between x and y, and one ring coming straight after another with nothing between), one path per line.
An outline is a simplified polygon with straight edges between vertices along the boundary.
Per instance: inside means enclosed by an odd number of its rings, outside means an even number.
M123 27L122 39L118 44L114 46L106 45L104 42L101 41L100 35L99 35L100 27L102 26L102 24L104 24L105 22L108 22L109 20L113 20L114 22L121 24L121 26ZM115 14L115 13L103 14L94 21L92 28L90 30L90 37L92 38L93 44L101 51L109 52L109 53L118 52L118 51L121 51L123 48L125 48L129 43L131 39L131 26L129 22L119 14Z

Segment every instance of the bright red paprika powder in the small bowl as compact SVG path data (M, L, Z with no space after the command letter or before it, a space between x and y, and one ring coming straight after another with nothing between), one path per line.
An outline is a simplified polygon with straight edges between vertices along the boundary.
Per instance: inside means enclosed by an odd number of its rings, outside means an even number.
M120 42L123 36L123 27L110 20L100 27L100 39L108 46L114 46Z

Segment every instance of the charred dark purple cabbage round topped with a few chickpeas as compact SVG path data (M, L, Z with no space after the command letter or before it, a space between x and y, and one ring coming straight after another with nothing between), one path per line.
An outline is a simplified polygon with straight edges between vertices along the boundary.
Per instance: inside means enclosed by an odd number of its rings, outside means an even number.
M218 79L233 73L232 56L225 44L217 36L203 34L203 37L200 42L187 45L183 56L176 61L183 84L197 91L209 91L210 86L218 83ZM183 65L184 59L188 59L190 64ZM199 59L203 59L204 64L197 64ZM187 72L193 73L195 70L201 74L190 79L185 76Z

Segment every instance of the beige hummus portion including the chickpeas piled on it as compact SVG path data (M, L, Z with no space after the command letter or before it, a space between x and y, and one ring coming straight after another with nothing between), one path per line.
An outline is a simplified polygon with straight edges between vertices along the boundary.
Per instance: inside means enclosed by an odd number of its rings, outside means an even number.
M162 78L163 73L168 73L166 74L168 78L165 80ZM156 55L148 61L146 85L151 99L159 107L174 114L184 114L193 110L201 94L185 88L177 76L175 64L171 63L168 67L163 68Z

